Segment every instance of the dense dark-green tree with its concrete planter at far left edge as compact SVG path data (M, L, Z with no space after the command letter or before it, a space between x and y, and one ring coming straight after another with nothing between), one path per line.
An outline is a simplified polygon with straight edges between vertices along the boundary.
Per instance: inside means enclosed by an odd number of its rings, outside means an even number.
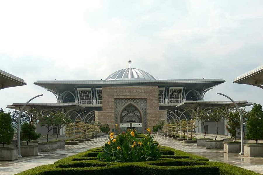
M5 147L13 139L14 129L11 126L11 116L8 113L0 112L0 160L17 160L18 147Z

